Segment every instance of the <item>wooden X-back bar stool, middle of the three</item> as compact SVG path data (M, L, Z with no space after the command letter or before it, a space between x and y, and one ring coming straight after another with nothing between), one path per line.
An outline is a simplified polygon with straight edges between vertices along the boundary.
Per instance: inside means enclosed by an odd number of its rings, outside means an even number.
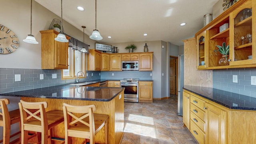
M28 143L28 131L41 132L41 143L53 143L52 128L64 121L63 112L51 110L46 112L47 102L25 102L20 100L21 144ZM34 112L36 110L36 112Z

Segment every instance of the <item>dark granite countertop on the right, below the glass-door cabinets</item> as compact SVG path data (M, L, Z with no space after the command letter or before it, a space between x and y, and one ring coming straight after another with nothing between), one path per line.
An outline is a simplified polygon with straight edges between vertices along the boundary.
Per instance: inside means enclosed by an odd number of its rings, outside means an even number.
M185 85L183 89L230 109L256 110L256 98L254 97L200 86Z

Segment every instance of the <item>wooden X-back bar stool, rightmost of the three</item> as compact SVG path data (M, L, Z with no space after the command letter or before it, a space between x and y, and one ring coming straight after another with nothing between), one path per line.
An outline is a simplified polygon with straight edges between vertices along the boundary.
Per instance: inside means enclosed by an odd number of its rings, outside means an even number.
M108 115L93 114L95 110L95 105L72 106L63 104L65 144L71 144L70 137L90 139L90 144L95 144L95 134L103 126L105 127L105 144L108 143Z

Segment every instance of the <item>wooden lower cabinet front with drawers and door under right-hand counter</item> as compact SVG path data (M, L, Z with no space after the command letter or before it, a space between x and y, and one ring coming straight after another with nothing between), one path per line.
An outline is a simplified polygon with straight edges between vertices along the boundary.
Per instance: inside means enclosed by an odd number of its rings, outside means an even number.
M227 144L228 113L231 110L186 90L183 91L183 96L183 122L186 125L188 122L186 116L190 113L188 116L190 129L188 129L198 143ZM190 107L184 106L188 105L186 100L188 96L190 96Z

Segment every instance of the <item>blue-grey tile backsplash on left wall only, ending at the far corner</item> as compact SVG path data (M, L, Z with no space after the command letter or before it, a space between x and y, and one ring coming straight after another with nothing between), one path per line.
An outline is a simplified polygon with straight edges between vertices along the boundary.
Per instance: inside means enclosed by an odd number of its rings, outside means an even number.
M80 78L80 81L100 79L100 72L86 71L86 73L88 73L88 76ZM44 75L43 80L40 80L40 74ZM57 78L52 78L52 74L57 74ZM20 81L15 82L15 75L20 75ZM61 80L61 70L0 68L0 93L71 84L74 82L76 82L76 79Z

